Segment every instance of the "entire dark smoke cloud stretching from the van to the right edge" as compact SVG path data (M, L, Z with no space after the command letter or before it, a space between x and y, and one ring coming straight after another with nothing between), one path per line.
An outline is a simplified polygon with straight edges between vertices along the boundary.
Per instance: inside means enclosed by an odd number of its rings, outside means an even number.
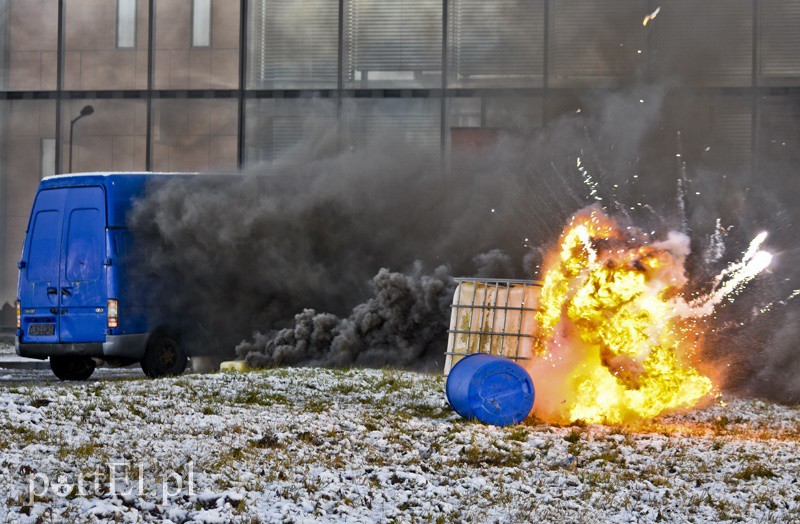
M131 227L146 272L159 281L162 314L190 319L199 333L194 352L233 356L238 345L261 365L433 368L445 347L453 275L535 276L565 220L599 204L657 236L688 232L698 291L770 231L773 266L720 309L706 361L730 370L729 389L797 401L800 303L789 297L800 287L800 185L797 152L781 144L800 111L780 97L696 89L714 75L746 85L740 62L750 57L739 60L728 43L747 38L728 33L749 25L727 8L678 8L691 13L673 16L664 6L646 38L603 46L598 60L607 64L596 69L614 71L626 87L520 97L511 104L514 129L479 151L442 158L438 147L408 137L351 141L312 122L304 140L243 176L154 186ZM694 15L707 30L687 37L681 20ZM641 31L640 20L593 23L614 43ZM502 113L494 102L486 101L489 119ZM754 102L763 113L755 150ZM542 121L519 122L541 108Z

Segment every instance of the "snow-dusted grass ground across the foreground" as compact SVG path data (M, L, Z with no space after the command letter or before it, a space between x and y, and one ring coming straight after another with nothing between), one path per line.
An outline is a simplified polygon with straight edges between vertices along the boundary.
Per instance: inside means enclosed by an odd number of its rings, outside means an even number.
M497 428L398 371L0 386L0 450L11 522L800 522L800 408L754 399Z

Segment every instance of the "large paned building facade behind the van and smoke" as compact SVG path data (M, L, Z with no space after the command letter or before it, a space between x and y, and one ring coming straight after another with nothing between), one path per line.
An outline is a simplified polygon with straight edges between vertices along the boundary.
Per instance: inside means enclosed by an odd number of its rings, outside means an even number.
M644 28L658 5L0 0L0 304L36 186L69 166L237 172L329 125L447 154L636 85L677 86L665 112L725 136L728 160L797 155L800 2L671 0Z

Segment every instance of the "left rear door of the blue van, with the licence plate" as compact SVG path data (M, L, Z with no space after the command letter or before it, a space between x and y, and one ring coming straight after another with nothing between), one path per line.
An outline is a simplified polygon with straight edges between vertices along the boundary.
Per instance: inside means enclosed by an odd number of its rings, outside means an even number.
M36 197L20 264L21 338L25 342L58 342L59 266L66 198L63 189L40 191Z

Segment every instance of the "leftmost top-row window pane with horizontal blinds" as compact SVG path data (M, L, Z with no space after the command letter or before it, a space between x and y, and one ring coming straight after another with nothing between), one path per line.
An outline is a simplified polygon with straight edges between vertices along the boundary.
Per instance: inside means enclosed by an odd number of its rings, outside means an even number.
M255 0L249 9L250 87L336 87L338 0Z

